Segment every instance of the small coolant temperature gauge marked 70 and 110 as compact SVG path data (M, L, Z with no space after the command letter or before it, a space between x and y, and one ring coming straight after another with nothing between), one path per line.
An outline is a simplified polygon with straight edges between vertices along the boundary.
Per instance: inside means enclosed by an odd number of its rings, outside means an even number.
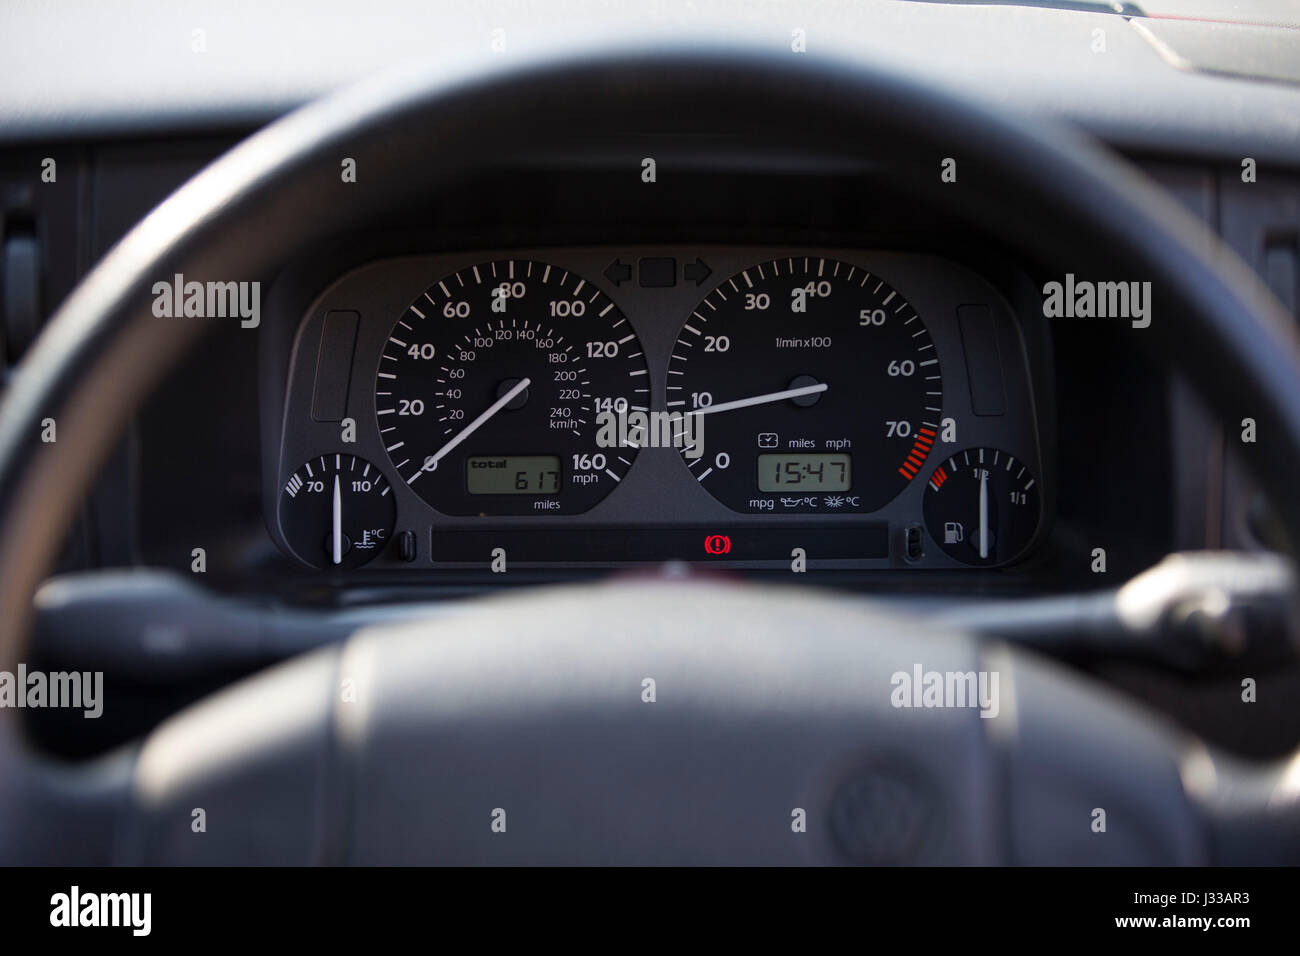
M360 567L389 544L395 522L391 485L356 455L313 458L280 493L285 541L316 568Z

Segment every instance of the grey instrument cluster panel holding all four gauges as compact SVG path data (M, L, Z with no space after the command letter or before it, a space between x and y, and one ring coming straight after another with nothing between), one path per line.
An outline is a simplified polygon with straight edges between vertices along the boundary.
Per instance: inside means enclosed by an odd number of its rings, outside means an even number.
M1050 522L1043 339L941 256L395 256L283 328L263 505L304 568L991 568Z

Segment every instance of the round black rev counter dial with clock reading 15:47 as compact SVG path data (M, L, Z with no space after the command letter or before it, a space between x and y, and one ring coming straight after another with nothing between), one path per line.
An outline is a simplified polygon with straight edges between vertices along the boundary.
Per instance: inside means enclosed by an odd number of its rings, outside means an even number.
M887 505L922 471L942 408L926 324L888 282L835 259L745 269L690 315L668 364L670 412L698 416L682 457L742 512Z

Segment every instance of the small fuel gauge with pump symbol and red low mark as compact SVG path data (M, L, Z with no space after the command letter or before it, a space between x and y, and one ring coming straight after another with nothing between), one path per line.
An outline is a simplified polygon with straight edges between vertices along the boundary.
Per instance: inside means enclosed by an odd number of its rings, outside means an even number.
M940 462L926 483L926 528L966 564L1004 564L1039 527L1037 480L1023 462L975 447Z

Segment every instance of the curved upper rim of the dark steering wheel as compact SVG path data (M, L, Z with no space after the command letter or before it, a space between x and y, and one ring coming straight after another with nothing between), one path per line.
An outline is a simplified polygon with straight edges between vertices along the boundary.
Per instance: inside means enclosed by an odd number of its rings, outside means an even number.
M151 313L155 281L260 274L292 248L298 224L329 233L368 221L412 190L465 177L520 138L594 146L607 113L668 142L725 117L740 142L763 148L776 138L771 117L781 116L790 122L779 137L809 147L879 161L862 143L898 143L888 164L900 189L971 217L996 212L1002 235L1049 258L1092 246L1089 261L1109 263L1109 277L1149 278L1152 347L1175 355L1214 407L1256 419L1268 438L1244 451L1300 540L1300 498L1287 494L1284 466L1300 460L1300 350L1290 321L1201 224L1096 144L841 56L734 42L556 47L490 69L400 70L308 105L200 173L83 280L0 406L0 661L21 654L31 596L98 464L202 332ZM343 157L356 161L358 182L342 183ZM956 187L940 181L945 157L958 160ZM629 170L637 164L629 156ZM1044 224L1043 208L1070 226L1067 241ZM39 440L46 418L57 421L53 444ZM0 734L12 723L0 721Z

